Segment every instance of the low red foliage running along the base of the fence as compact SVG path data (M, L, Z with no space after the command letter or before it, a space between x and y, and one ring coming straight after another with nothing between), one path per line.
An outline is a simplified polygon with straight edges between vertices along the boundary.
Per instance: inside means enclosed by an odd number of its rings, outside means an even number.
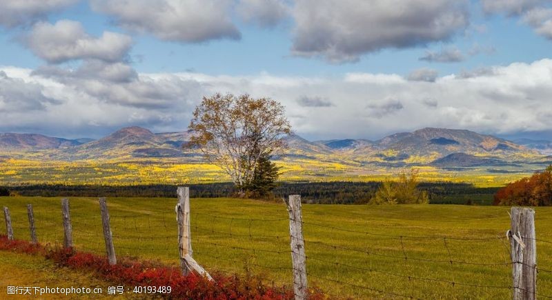
M214 281L197 274L181 274L179 267L160 263L121 259L111 266L108 259L96 254L77 252L73 248L50 249L28 241L10 241L0 235L0 250L26 254L43 254L59 266L92 272L115 285L170 286L170 294L157 294L169 299L295 299L291 287L269 286L255 276L213 274ZM326 299L311 289L309 299ZM150 295L152 296L152 295ZM153 295L155 296L155 295Z

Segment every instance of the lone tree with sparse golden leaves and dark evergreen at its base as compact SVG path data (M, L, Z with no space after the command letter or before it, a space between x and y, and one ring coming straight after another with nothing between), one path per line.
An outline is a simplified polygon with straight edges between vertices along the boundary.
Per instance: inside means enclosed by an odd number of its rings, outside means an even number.
M199 148L207 161L230 175L243 197L255 186L270 186L277 178L270 156L286 147L284 138L292 132L284 113L284 106L269 98L254 99L248 94L204 97L188 126L194 132L188 147Z

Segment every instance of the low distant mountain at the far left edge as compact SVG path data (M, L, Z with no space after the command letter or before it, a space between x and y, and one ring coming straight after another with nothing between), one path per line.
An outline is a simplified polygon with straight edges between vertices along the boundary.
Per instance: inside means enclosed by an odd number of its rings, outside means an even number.
M68 148L80 145L74 139L46 137L42 134L1 133L0 149L6 150L46 150Z

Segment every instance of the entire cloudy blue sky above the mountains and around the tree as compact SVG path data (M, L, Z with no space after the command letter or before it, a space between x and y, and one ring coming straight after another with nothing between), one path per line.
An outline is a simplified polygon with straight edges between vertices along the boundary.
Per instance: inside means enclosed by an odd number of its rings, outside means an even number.
M0 132L186 130L270 97L307 139L552 139L551 0L2 0Z

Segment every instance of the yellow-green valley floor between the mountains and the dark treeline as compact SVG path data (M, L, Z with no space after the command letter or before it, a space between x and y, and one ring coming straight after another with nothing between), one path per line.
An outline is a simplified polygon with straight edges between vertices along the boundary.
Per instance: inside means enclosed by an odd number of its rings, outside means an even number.
M357 161L332 161L328 157L313 159L281 159L282 181L384 181L415 168L424 182L473 183L475 186L499 187L527 177L535 170L544 170L546 164L528 163L523 168L510 170L489 169L489 166L444 170L419 164L379 166ZM493 167L495 168L495 167ZM492 172L491 172L492 171ZM79 161L45 160L40 157L2 159L0 157L0 186L36 184L132 186L144 184L197 184L229 181L228 175L208 163L185 159L99 159Z

